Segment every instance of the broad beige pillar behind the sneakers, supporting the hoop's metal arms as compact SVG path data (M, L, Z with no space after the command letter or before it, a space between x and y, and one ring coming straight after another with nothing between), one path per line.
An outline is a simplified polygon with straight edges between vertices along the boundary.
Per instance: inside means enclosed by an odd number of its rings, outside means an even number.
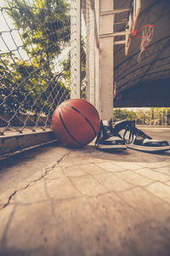
M113 0L100 0L100 13L112 11ZM113 15L100 15L100 35L113 33ZM100 116L111 119L113 116L113 37L100 37Z

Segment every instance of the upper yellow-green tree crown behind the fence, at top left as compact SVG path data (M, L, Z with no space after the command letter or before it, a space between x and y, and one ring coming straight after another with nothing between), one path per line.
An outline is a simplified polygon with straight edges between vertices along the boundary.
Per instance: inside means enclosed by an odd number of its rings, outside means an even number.
M37 4L11 0L8 15L23 29L23 47L39 61L59 55L70 40L70 5L64 0L37 0ZM32 49L33 48L33 49Z

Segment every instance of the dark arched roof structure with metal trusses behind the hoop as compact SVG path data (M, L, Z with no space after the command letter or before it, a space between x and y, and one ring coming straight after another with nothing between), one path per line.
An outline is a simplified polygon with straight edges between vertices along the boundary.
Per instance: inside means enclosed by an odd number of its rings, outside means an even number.
M131 6L131 0L114 0L114 9ZM127 20L128 12L117 14L115 23ZM135 29L146 24L155 26L150 45L138 62L141 39L133 38L128 55L124 45L114 46L115 107L170 106L170 1L141 0L141 11ZM126 23L114 26L114 32L125 30ZM116 37L115 40L123 40Z

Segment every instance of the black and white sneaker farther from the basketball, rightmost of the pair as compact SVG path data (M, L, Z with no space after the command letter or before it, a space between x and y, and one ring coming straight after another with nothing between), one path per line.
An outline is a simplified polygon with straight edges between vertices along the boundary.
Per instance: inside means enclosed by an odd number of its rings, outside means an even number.
M143 131L140 131L135 126L135 121L127 119L116 122L116 132L122 137L127 144L127 148L133 148L140 151L156 152L170 150L167 141L154 140Z

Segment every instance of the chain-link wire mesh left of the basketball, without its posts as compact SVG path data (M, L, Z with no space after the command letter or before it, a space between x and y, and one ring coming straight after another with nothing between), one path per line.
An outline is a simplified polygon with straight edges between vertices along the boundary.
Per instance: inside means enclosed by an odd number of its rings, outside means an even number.
M75 6L75 9L77 7ZM71 96L71 1L0 3L0 134L50 128ZM81 97L86 98L86 28L82 20ZM76 46L75 46L76 47Z

